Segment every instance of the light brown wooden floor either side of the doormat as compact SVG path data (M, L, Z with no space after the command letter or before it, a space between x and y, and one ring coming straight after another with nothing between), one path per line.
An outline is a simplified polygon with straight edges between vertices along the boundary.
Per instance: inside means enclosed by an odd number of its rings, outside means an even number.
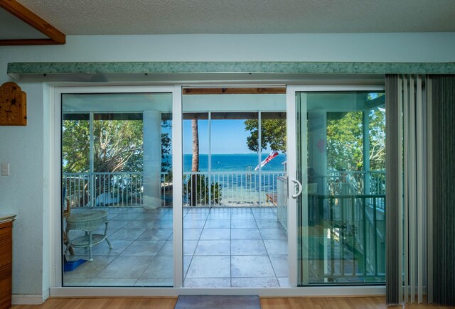
M25 308L80 308L80 309L121 309L159 308L173 309L176 298L50 298L43 305L14 305L13 309ZM262 309L351 309L351 308L447 308L437 305L385 305L385 297L353 298L261 298Z

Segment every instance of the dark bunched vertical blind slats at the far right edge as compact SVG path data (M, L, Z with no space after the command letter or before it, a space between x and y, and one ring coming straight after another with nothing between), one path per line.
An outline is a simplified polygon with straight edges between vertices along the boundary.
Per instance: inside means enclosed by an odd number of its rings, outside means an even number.
M432 86L432 274L429 300L455 305L455 75Z

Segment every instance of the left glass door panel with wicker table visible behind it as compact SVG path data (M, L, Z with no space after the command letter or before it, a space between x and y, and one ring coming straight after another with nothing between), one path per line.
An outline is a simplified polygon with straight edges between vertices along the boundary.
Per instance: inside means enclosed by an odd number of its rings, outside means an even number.
M62 95L63 286L173 286L172 106Z

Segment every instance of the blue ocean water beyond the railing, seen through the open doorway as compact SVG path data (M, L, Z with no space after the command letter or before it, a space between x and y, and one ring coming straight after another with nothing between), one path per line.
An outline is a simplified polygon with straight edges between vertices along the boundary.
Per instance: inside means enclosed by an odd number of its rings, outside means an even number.
M267 158L269 153L261 153L261 160ZM183 172L191 172L191 154L183 155ZM257 153L242 153L242 154L213 154L212 171L213 172L246 172L254 170L259 164L259 156ZM262 167L263 171L284 171L284 161L286 155L280 153L269 163ZM199 171L208 171L208 154L199 155Z

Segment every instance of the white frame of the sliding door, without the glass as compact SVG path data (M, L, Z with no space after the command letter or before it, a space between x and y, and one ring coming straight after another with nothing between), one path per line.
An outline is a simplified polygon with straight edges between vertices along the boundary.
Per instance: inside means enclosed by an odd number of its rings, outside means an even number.
M220 82L223 85L223 82ZM186 85L188 86L188 85ZM246 86L246 84L244 85ZM266 85L262 85L265 87ZM200 85L197 85L200 87ZM213 87L213 85L211 86ZM242 87L242 86L240 86ZM287 86L287 160L288 170L296 173L296 92L305 91L353 91L353 90L383 90L383 86L337 86L337 85L288 85ZM137 93L137 92L167 92L173 94L173 288L116 288L116 287L62 287L61 259L61 95L64 93ZM51 132L53 144L53 162L51 175L52 200L50 222L50 241L53 244L52 261L50 261L50 296L178 296L181 294L212 294L212 295L250 295L259 296L331 296L331 295L385 295L385 286L311 286L297 287L297 220L296 200L291 197L294 190L289 181L288 200L288 258L289 258L289 288L183 288L183 219L182 219L182 85L163 86L118 86L118 85L88 85L88 86L58 86L50 85L50 111L54 115ZM306 109L306 107L305 107ZM294 175L295 177L296 175Z

